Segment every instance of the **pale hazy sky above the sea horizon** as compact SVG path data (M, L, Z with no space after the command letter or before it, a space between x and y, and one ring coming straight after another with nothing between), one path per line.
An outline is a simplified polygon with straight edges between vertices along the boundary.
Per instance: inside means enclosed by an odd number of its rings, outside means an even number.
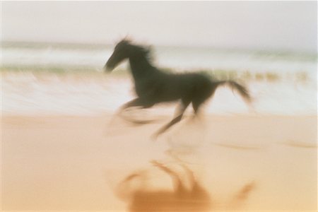
M4 41L317 52L317 1L2 1Z

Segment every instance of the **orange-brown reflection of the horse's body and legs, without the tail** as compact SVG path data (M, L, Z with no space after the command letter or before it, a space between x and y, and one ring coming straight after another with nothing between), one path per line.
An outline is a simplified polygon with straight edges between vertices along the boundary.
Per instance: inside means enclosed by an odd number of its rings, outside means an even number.
M137 177L144 180L142 172L129 175L117 187L117 194L129 202L130 212L211 211L211 199L208 192L196 180L194 173L187 166L181 165L186 172L190 187L187 187L186 179L182 179L175 170L158 161L153 161L152 164L171 177L173 189L149 191L141 187L134 191L129 191L131 181Z

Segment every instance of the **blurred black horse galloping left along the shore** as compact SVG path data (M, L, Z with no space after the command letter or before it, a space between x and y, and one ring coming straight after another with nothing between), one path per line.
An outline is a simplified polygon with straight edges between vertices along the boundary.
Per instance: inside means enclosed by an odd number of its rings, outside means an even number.
M129 40L120 41L110 59L105 64L106 71L112 71L124 59L129 59L131 73L134 77L136 99L124 104L119 113L129 107L148 108L159 102L181 100L175 117L155 134L162 134L170 126L182 119L184 111L190 103L194 114L198 114L200 106L210 98L220 85L227 85L240 93L242 98L250 102L247 88L235 81L213 81L203 73L165 73L151 64L150 50L134 45Z

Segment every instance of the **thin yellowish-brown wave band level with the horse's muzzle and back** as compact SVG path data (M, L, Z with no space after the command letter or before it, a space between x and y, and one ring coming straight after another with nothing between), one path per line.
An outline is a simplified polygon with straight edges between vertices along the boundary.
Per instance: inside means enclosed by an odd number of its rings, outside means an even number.
M33 74L69 74L69 75L90 75L99 76L104 70L100 67L91 66L34 66L34 65L16 65L1 66L1 73L33 73ZM163 71L173 73L174 69L164 69ZM216 80L242 80L242 81L266 81L275 82L282 80L309 82L315 78L310 76L306 71L298 71L295 73L286 72L255 72L255 71L238 71L225 69L192 69L187 72L201 72ZM130 72L125 68L119 68L112 71L114 77L129 77Z

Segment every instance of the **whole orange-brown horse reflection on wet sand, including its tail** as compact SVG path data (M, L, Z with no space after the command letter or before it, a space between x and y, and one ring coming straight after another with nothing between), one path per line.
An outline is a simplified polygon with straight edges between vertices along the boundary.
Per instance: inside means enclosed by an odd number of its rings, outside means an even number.
M247 199L256 188L256 183L252 181L237 189L225 201L212 201L207 189L186 165L179 164L186 173L184 177L180 172L156 160L151 163L172 179L172 189L149 189L146 172L132 173L116 188L117 196L128 204L129 212L236 210L246 206ZM134 187L137 180L141 183L139 187Z

